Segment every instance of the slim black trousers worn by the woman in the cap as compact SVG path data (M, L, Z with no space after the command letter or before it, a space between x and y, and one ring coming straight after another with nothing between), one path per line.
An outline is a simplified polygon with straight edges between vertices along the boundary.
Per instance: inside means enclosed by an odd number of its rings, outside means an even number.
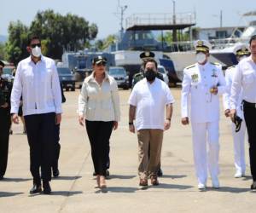
M85 120L85 125L90 141L91 158L96 175L106 176L109 139L113 130L113 121Z

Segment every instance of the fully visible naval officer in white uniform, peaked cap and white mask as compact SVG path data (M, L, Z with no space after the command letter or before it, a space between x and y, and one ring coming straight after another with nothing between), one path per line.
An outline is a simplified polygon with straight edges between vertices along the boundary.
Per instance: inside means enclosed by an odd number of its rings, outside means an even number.
M219 187L218 95L224 94L226 83L222 67L208 61L211 46L205 40L196 41L197 63L183 71L182 124L189 124L190 118L195 172L200 190L207 187L207 169L212 177L212 187Z

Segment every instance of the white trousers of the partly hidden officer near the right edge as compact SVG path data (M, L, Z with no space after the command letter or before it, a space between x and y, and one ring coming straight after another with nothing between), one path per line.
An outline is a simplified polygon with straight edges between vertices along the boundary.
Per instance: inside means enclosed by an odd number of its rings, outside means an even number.
M244 141L246 133L246 124L244 119L241 122L241 129L236 132L236 125L232 123L232 136L234 142L234 158L235 158L235 167L236 171L245 173L246 163L244 156Z

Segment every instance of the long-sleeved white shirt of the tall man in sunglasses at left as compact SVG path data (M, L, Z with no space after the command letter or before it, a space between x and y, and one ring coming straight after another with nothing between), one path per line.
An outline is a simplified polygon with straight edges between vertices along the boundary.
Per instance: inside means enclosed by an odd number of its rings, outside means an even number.
M25 116L61 113L61 87L55 61L43 55L37 64L31 56L21 60L11 94L11 113L18 113L21 94Z

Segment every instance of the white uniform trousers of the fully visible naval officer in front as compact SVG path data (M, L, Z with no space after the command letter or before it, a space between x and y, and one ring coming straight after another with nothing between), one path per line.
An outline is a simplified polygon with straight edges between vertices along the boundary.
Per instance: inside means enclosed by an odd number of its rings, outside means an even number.
M207 184L207 169L213 178L218 178L218 121L191 123L195 173L199 183ZM208 144L208 148L207 148Z

